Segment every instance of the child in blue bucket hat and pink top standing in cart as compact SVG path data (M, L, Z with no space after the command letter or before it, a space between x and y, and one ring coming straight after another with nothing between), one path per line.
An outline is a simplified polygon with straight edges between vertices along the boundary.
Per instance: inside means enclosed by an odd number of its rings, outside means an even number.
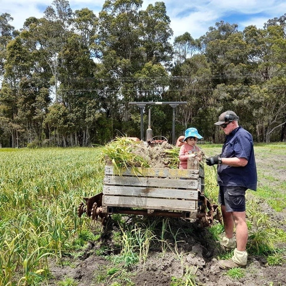
M198 134L198 130L194 127L190 127L185 131L185 138L183 142L186 144L182 145L179 152L179 169L186 169L188 165L188 158L195 157L198 153L201 154L202 150L196 146L198 139L203 137Z

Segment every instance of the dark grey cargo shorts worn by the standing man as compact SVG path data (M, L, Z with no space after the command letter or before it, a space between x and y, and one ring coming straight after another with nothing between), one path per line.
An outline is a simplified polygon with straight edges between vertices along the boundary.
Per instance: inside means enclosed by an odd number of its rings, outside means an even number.
M227 212L245 211L245 187L219 187L219 204L225 206Z

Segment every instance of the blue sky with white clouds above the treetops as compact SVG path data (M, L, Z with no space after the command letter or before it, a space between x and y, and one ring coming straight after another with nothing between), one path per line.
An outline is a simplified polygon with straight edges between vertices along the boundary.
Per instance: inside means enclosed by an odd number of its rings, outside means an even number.
M10 22L15 29L23 27L25 19L34 16L41 18L47 6L53 0L0 0L0 14L9 13L13 17ZM154 0L143 0L142 9ZM93 10L96 16L102 9L104 0L70 0L73 11L82 8ZM167 15L174 37L189 32L194 39L204 35L209 27L221 20L230 24L238 24L238 30L246 26L256 25L263 28L268 19L280 17L286 13L285 0L166 0Z

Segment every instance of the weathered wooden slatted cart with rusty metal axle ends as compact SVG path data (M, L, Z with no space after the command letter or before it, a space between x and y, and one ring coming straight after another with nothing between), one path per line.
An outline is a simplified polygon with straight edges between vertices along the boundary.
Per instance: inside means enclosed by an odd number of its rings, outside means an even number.
M219 219L217 205L204 196L204 169L190 158L188 168L126 168L120 174L113 166L105 167L103 192L86 198L78 208L92 219L114 213L183 217L194 219L199 227Z

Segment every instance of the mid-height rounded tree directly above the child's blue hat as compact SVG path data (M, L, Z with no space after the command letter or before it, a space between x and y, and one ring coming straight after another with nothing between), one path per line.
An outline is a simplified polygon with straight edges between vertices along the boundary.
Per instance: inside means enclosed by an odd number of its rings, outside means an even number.
M172 69L168 97L188 102L176 115L182 126L181 132L195 124L204 131L205 138L210 136L208 123L211 118L206 114L213 107L212 76L205 55L195 54L182 64L176 63Z

